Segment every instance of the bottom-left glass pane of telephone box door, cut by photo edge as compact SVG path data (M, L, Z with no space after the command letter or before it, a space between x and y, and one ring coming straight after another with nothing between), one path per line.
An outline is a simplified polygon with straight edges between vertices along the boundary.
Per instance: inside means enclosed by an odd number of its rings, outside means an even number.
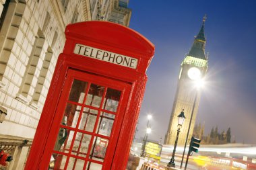
M49 169L64 169L67 157L64 155L52 155Z

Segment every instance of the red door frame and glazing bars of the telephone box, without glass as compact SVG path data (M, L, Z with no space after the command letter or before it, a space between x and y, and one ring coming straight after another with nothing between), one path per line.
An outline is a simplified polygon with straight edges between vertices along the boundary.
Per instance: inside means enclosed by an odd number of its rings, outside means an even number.
M98 77L96 75L91 75L91 74L88 74L88 73L82 73L81 71L69 70L69 72L67 74L67 79L65 81L65 85L63 87L63 94L61 94L61 99L59 100L59 105L63 105L63 106L66 105L67 98L68 98L69 91L70 91L70 87L71 87L71 83L73 82L72 81L73 79L89 81L90 83L96 83L96 84L104 85L106 87L110 87L110 88L113 88L113 89L118 89L120 91L123 91L124 93L121 96L121 99L120 99L119 103L122 103L123 100L127 101L128 97L129 97L129 91L131 89L131 85L129 85L127 83L123 83L123 82L120 82L120 81L114 81L112 79L106 79L105 77ZM87 93L89 91L89 87L90 87L90 84L88 85L88 87L86 89ZM104 94L102 95L103 99L104 99L105 95L106 95L106 88L104 89ZM83 111L83 107L92 108L94 110L99 110L99 114L98 114L97 119L96 119L96 126L94 126L94 132L84 132L84 133L90 134L92 136L98 136L100 138L106 138L106 139L110 140L110 144L107 148L107 152L106 152L106 156L105 156L107 158L110 158L110 157L113 157L113 154L114 154L113 151L115 151L115 146L116 146L117 137L118 137L117 135L113 135L113 134L119 134L121 122L123 120L123 113L125 111L126 105L124 105L124 104L121 105L121 108L120 108L120 105L119 105L119 108L118 108L117 112L110 112L108 110L102 109L103 99L100 103L99 108L94 108L93 106L90 106L90 105L83 106L83 105L85 105L83 103L86 101L86 97L84 98L84 101L82 103L75 103L75 105L81 105L82 106L82 109L81 109L80 112ZM74 103L74 102L68 101L68 103ZM71 128L71 127L61 125L61 119L63 118L62 116L63 116L64 111L65 111L65 107L58 107L57 108L55 118L53 120L53 126L50 130L49 139L46 142L45 148L53 148L53 146L55 144L54 139L56 138L56 136L59 132L59 128L68 128L69 130L75 131L73 136L76 135L77 131L83 132L82 130L77 130L76 128ZM115 122L114 122L114 125L113 125L112 135L110 137L103 136L103 135L100 135L100 134L96 134L96 127L97 127L97 124L98 124L97 122L100 118L100 112L101 111L108 112L108 113L116 115ZM79 118L81 118L81 116L82 116L82 114L80 113ZM78 118L77 124L79 124L79 120L80 120L79 118ZM54 136L54 137L52 138L50 136ZM75 138L73 138L73 140L71 142L70 148L73 147L74 139ZM53 141L51 141L51 140L53 140ZM92 148L92 140L90 141L90 145L89 145L87 153L90 153L91 148ZM71 157L71 150L69 150L69 153L61 153L59 151L53 151L53 149L44 149L44 150L45 150L44 155L42 155L42 162L43 163L40 165L40 169L46 169L48 167L48 164L46 164L46 162L50 161L51 153L59 153L61 155L67 156L67 162L69 161L69 157ZM87 154L86 159L83 158L83 157L74 156L74 155L72 155L72 157L88 161L89 155L90 154ZM98 161L94 161L94 160L91 160L91 162L102 164L104 169L110 169L109 161L106 161L106 163L104 161L104 164L101 163L101 162L98 162ZM67 163L65 164L65 169L66 168L67 168Z

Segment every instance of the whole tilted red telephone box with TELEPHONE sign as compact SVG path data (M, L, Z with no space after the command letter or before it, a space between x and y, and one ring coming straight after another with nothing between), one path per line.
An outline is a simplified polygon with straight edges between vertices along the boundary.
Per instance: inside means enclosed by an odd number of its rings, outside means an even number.
M110 22L65 35L25 169L125 169L154 45Z

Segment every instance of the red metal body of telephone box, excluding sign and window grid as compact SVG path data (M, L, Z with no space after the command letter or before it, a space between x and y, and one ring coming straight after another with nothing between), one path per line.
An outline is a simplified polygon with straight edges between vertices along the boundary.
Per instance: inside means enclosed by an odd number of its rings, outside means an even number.
M146 69L154 54L154 45L137 32L109 22L72 24L67 26L65 34L67 38L65 48L55 67L25 169L47 169L59 127L64 127L60 125L61 116L58 115L65 110L74 77L123 91L119 101L121 117L115 118L115 126L106 151L108 157L105 157L102 169L125 169L146 86ZM131 69L74 54L75 44L137 58L137 68ZM83 78L83 75L88 77ZM102 137L106 138L106 136Z

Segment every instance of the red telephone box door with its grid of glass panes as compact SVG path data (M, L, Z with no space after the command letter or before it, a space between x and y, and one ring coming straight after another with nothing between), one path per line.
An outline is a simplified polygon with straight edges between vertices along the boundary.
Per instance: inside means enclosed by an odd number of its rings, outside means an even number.
M69 69L40 169L111 169L130 90L128 83Z

